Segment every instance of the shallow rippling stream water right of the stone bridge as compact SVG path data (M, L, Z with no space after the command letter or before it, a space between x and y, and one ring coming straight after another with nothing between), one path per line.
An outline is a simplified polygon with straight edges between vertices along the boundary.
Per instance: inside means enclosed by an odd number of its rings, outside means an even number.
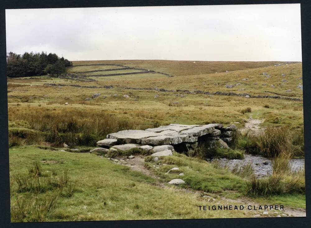
M263 177L272 174L272 165L271 160L262 156L258 155L250 155L244 154L244 159L238 160L228 160L225 158L218 159L220 161L220 166L228 167L232 169L236 164L238 166L244 166L250 163L253 167L254 174L258 177ZM290 160L290 165L293 171L297 171L304 166L304 159L303 158L295 158Z

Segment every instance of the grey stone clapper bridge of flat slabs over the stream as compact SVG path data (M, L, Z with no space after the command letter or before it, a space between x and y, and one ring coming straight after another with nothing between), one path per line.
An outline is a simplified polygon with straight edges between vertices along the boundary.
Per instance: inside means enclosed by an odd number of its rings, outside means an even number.
M208 148L215 147L217 142L220 148L229 148L227 143L232 141L233 131L236 129L234 124L223 127L220 123L206 125L171 123L146 130L123 130L108 134L106 139L97 142L100 147L90 152L107 153L109 150L117 152L140 148L148 154L151 153L157 161L158 157L173 155L172 151L175 150L178 152L193 150L199 142L207 143ZM182 179L173 179L169 182L169 184L182 183L184 183Z

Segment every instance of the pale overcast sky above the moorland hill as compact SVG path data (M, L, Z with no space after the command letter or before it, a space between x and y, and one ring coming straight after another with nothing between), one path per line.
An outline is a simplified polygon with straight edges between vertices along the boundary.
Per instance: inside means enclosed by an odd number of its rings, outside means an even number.
M71 61L301 61L300 4L12 9L6 35Z

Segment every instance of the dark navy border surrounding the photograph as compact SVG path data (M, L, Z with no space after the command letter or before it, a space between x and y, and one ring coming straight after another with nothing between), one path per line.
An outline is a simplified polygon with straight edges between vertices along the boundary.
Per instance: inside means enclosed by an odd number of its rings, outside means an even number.
M180 220L132 221L82 221L82 222L10 222L7 78L6 75L6 25L5 9L21 8L75 8L75 7L126 7L126 6L182 6L182 5L236 5L236 4L301 4L301 36L304 99L304 142L306 173L306 217L284 218L226 218ZM286 15L284 15L286 16ZM6 0L0 9L0 226L1 227L311 227L311 1L290 0ZM247 20L247 18L245 18Z

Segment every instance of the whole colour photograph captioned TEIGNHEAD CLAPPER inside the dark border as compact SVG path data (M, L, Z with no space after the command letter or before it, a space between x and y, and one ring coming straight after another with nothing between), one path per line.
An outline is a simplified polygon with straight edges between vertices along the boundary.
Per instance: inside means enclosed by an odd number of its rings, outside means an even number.
M10 222L306 217L300 7L6 9Z

